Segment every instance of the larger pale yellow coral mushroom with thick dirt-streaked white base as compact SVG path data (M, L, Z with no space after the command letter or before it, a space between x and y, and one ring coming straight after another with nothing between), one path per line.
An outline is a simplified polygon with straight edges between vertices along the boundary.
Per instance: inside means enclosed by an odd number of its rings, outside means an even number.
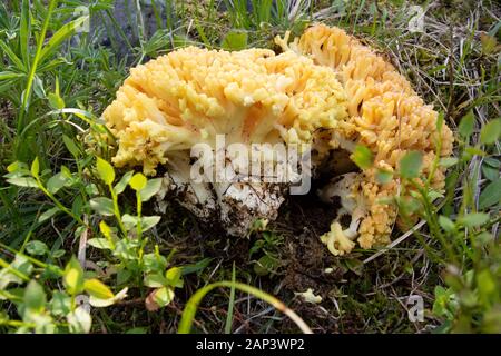
M245 235L256 218L276 217L283 185L195 182L190 148L215 150L219 135L227 145L311 144L317 129L347 119L347 100L330 68L294 51L188 47L131 69L102 116L119 142L116 166L147 175L167 167L166 185L185 207Z

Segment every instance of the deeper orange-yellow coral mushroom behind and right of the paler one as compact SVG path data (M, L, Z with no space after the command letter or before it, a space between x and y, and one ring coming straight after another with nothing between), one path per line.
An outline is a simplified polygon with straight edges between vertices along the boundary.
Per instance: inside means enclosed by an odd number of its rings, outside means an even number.
M435 156L438 136L442 142L441 156L451 155L452 131L443 126L438 132L438 112L424 103L392 65L345 31L317 24L289 44L287 37L278 38L277 43L285 50L307 56L316 65L331 68L343 85L348 98L350 118L344 126L347 129L336 130L331 144L334 148L346 148L345 141L357 142L374 154L374 168L364 170L361 179L351 177L350 186L352 194L360 195L365 206L358 244L363 248L386 244L396 210L379 201L395 196L399 182L395 178L385 185L377 184L376 169L394 171L409 150L420 150L424 154L423 172L426 174ZM441 189L443 185L444 170L441 168L435 172L432 186Z

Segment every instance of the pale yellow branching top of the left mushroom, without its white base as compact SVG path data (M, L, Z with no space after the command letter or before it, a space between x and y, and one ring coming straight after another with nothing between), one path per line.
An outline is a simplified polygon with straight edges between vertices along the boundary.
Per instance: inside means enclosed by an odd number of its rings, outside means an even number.
M104 117L119 139L114 162L153 175L216 135L227 144L310 141L347 115L335 75L304 56L188 47L134 68Z

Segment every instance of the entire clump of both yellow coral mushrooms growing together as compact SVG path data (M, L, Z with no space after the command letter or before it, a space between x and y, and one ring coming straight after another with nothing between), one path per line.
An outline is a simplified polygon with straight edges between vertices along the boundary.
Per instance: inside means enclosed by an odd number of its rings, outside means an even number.
M265 170L217 179L220 172L212 169L210 155L199 157L209 179L195 180L194 146L228 154L232 144L250 151L254 144L269 144L262 145L262 164L277 166L284 157L274 145L299 145L302 154L316 154L311 162L315 171L333 151L351 152L361 144L373 152L374 167L350 172L334 167L336 177L320 191L326 201L340 197L341 212L351 216L351 224L336 219L321 238L334 255L350 253L355 240L363 248L385 244L396 211L380 198L396 195L397 181L379 184L376 169L396 170L406 151L421 150L426 171L435 136L442 139L441 155L448 156L452 134L445 126L438 132L438 113L405 78L343 30L320 24L287 41L288 33L276 39L279 55L188 47L132 68L102 115L118 141L112 161L140 166L151 176L161 172L161 198L174 196L199 218L243 236L256 218L276 218L292 182L263 179ZM220 135L223 148L217 145ZM238 166L233 177L247 171L243 168L249 167ZM433 187L441 188L443 180L440 170Z

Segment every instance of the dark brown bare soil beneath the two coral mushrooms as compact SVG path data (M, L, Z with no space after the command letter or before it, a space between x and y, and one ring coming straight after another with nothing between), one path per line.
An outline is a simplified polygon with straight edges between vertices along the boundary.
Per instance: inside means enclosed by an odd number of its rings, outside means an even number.
M288 196L279 208L278 218L269 222L267 230L283 237L283 245L279 246L281 266L277 268L276 275L262 277L259 284L264 290L272 294L281 285L276 296L302 318L313 323L311 326L315 328L315 332L336 333L338 325L333 315L336 315L337 312L334 305L328 301L330 295L342 279L356 277L356 275L345 268L343 258L334 257L318 238L330 230L331 222L336 218L340 208L338 204L324 204L316 196L317 188L324 184L324 179L315 180L310 194ZM234 263L235 266L252 270L253 263L249 260L249 250L255 240L259 238L261 233L255 233L248 238L226 236L217 225L200 224L195 216L183 208L178 207L173 210L177 211L175 215L178 215L178 217L170 215L173 220L169 227L175 228L177 226L180 229L179 231L173 229L173 236L179 238L179 236L183 236L181 231L185 231L184 238L177 241L171 239L167 241L168 245L176 245L178 253L175 259L181 263L185 257L204 256L220 261L220 267L228 271L232 270ZM183 221L183 224L173 224ZM350 258L352 257L356 256L352 254ZM326 268L332 268L332 271L326 271ZM328 307L331 310L318 308L318 305L304 303L298 297L293 298L295 293L303 293L308 288L312 288L315 295L320 295L323 300L326 300L326 303L322 303L322 306ZM279 327L283 333L296 329L295 325L287 319L284 319Z

